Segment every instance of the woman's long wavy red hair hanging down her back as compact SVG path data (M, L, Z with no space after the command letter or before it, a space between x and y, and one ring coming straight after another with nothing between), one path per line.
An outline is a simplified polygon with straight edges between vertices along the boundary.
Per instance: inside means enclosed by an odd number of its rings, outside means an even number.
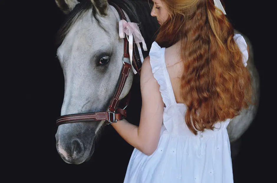
M235 43L234 28L213 0L162 0L169 19L156 42L162 47L181 42L184 73L181 96L185 121L197 130L239 115L251 103L250 73Z

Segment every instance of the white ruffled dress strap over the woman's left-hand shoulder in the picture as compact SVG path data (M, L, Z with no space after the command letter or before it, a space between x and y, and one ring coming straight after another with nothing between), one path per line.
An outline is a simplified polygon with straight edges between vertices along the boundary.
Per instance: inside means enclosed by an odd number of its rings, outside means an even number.
M166 107L176 103L169 74L164 59L165 48L161 48L155 41L149 51L150 64L154 78L160 85L160 92Z

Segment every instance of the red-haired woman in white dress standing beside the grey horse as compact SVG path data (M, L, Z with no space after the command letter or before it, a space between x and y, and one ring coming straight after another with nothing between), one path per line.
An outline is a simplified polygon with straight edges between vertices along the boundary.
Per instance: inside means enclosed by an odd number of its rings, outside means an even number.
M161 27L141 69L139 126L124 182L233 183L227 125L250 103L247 44L219 0L154 0Z

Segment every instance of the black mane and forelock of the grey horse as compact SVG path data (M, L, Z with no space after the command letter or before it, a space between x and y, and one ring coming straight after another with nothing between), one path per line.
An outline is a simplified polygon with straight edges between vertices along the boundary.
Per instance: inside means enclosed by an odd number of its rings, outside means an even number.
M147 48L151 47L151 44L155 41L156 33L158 32L158 22L154 17L150 15L151 7L149 7L148 1L139 0L108 0L108 3L115 3L123 11L126 12L131 22L139 24L139 28L142 36L144 37ZM150 2L152 3L152 1ZM112 5L112 4L111 4ZM80 1L79 4L67 15L66 20L62 27L57 32L56 44L60 45L67 35L68 31L75 24L78 19L85 14L90 8L92 8L92 16L98 22L100 27L101 23L98 21L96 16L96 9L90 0ZM138 12L140 14L138 14ZM103 27L102 27L103 28ZM104 28L103 28L104 29ZM105 29L104 29L105 30ZM106 31L106 30L105 30ZM149 54L148 51L143 51L144 57Z

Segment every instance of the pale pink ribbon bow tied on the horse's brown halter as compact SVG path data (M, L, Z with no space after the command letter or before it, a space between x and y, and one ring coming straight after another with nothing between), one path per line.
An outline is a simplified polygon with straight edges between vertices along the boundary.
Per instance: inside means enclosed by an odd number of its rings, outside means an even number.
M144 51L147 51L146 43L144 41L144 38L141 35L141 32L139 31L139 26L137 23L133 22L126 22L124 19L119 21L119 37L125 38L125 34L128 35L127 39L129 42L129 55L130 55L130 61L131 66L133 69L134 74L136 74L136 70L133 67L132 64L132 58L133 58L133 38L135 39L135 43L138 46L139 50L139 57L141 59L141 63L143 62L144 58L141 51L141 46L139 43L142 43L142 47Z

